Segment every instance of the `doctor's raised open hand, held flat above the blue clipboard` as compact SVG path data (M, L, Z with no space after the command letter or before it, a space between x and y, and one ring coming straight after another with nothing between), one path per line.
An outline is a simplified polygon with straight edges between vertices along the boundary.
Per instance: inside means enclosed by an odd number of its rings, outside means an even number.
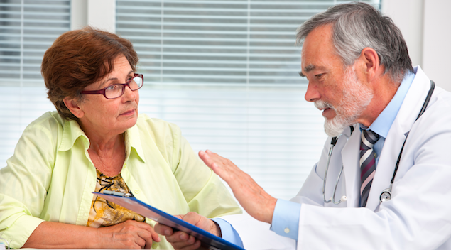
M271 224L276 198L268 195L251 176L244 173L229 159L208 150L200 151L199 156L214 173L229 184L239 204L246 212L261 222Z

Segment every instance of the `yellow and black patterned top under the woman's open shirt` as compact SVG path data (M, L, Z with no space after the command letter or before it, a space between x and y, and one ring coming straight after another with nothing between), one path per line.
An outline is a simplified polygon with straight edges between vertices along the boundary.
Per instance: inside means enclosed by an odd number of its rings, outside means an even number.
M131 193L120 173L114 177L109 177L97 170L95 192L103 192L104 190ZM87 226L108 227L129 219L134 219L138 222L146 221L146 218L142 215L94 195Z

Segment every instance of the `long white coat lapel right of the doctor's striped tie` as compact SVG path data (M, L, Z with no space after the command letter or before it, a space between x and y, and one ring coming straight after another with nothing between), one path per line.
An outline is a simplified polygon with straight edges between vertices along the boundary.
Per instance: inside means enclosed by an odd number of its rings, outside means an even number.
M381 195L381 192L390 185L396 161L398 160L401 147L406 140L406 135L408 134L408 131L411 130L413 123L423 106L423 102L428 95L430 87L429 79L420 67L415 69L415 78L404 98L403 104L401 104L401 108L399 109L390 130L388 131L387 138L384 142L384 148L382 148L381 157L379 158L379 163L376 166L376 173L374 175L373 183L371 184L371 190L369 191L368 202L366 203L366 207L370 210L378 209L380 205L379 196Z

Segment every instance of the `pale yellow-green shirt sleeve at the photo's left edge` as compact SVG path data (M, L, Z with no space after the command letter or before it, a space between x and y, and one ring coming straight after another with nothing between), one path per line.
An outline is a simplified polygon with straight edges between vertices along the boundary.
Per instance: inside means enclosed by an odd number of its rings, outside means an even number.
M27 126L13 156L0 169L0 237L9 241L11 248L23 246L43 222L39 216L56 148L52 139L55 128L48 125L38 119Z

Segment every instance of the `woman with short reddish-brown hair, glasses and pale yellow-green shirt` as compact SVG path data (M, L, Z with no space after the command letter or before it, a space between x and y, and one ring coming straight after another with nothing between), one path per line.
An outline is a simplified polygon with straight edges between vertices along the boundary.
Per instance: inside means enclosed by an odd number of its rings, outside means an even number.
M138 115L143 75L131 43L85 28L43 58L58 112L33 121L0 169L0 237L13 248L172 246L154 222L92 192L129 192L170 214L239 213L227 188L174 124Z

